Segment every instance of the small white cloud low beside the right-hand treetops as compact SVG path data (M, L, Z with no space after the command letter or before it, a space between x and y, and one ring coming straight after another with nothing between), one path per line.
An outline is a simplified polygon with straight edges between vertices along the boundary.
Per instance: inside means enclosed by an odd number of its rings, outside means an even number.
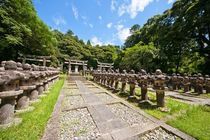
M124 42L130 36L130 29L124 27L122 24L116 25L115 28L117 29L117 38L121 42Z

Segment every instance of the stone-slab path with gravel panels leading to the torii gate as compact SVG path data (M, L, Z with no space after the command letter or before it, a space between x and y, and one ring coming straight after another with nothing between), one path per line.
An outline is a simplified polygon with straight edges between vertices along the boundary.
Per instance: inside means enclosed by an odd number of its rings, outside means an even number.
M51 139L193 139L103 88L71 76L43 136Z

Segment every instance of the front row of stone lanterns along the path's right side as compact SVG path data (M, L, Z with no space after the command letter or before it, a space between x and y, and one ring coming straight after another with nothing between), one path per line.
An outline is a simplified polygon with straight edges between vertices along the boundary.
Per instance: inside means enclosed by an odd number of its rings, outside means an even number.
M151 78L147 75L145 70L141 70L140 73L135 74L134 70L131 70L130 73L127 73L126 70L123 70L122 73L119 73L119 70L113 71L103 70L95 71L93 73L93 80L105 87L108 87L114 91L118 91L119 82L121 82L121 93L125 93L126 85L129 85L129 96L128 99L135 99L135 88L138 85L141 87L141 101L147 101L147 87L148 84L152 81L153 87L156 90L156 99L157 106L164 107L165 106L165 75L161 72L161 70L156 70L155 74Z

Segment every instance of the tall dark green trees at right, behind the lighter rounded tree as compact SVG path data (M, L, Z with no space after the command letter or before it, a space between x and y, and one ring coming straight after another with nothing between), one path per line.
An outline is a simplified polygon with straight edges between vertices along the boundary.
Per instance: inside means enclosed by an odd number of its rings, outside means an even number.
M209 1L177 0L171 9L150 18L142 28L134 25L130 30L124 48L153 42L159 50L156 65L164 72L209 73Z

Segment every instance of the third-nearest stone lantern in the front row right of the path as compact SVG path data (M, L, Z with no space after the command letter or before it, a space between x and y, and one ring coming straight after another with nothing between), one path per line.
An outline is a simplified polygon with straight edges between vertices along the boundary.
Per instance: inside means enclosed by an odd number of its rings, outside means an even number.
M130 95L128 99L135 99L135 88L136 88L136 74L134 70L131 70L128 78L128 84L130 85Z

